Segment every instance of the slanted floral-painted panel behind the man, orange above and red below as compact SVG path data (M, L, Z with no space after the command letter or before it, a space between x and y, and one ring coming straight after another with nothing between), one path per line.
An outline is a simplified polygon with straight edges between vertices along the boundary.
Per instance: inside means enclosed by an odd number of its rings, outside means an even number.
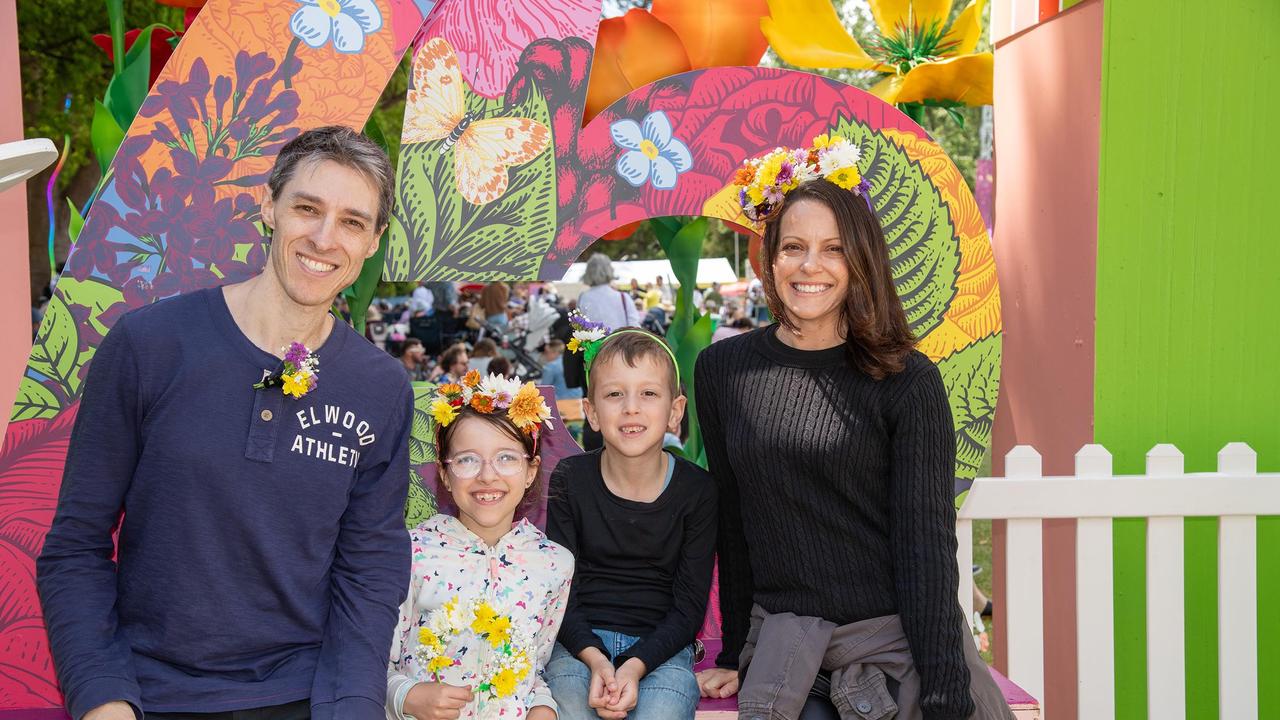
M0 708L61 702L35 559L102 336L132 307L261 268L275 152L305 128L362 126L431 5L211 0L165 65L72 249L0 450Z

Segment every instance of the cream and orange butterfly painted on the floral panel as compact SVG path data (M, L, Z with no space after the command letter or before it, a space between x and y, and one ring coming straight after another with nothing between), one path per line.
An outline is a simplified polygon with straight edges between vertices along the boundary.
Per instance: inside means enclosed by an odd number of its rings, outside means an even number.
M529 118L480 118L466 111L466 83L453 47L443 37L426 42L413 58L413 87L406 96L404 142L443 140L453 149L458 192L474 205L507 192L507 168L538 156L550 131Z

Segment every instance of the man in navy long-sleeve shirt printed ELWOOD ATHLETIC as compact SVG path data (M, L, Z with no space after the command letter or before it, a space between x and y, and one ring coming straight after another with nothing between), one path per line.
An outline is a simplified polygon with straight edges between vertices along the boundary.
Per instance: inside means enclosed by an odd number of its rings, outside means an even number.
M269 187L264 272L125 314L90 370L37 562L77 720L383 717L412 395L329 307L378 247L392 169L319 128ZM287 355L311 378L280 378Z

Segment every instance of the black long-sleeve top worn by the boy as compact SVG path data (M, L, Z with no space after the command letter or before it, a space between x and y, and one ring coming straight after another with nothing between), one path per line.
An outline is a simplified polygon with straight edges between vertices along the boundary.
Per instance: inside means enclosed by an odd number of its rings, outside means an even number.
M609 492L602 451L566 457L552 473L547 537L575 557L559 642L575 656L596 647L593 628L640 639L614 657L653 670L694 642L707 612L716 556L716 483L687 460L653 502Z

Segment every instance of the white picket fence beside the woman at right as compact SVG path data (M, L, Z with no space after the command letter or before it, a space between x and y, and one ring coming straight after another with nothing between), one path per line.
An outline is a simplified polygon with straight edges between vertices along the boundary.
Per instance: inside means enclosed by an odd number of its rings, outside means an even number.
M1087 445L1074 477L1042 477L1041 456L1018 446L1004 478L979 478L959 511L959 598L973 598L973 521L1007 520L1005 616L1009 679L1044 698L1041 520L1076 519L1076 639L1080 719L1115 717L1112 518L1147 518L1148 716L1185 717L1183 518L1219 518L1219 716L1258 716L1257 525L1280 515L1280 473L1258 473L1257 454L1233 442L1216 473L1184 473L1183 454L1157 445L1146 475L1114 475L1111 454ZM1270 609L1268 611L1275 611ZM1271 648L1270 652L1274 652ZM1210 680L1212 682L1212 680Z

